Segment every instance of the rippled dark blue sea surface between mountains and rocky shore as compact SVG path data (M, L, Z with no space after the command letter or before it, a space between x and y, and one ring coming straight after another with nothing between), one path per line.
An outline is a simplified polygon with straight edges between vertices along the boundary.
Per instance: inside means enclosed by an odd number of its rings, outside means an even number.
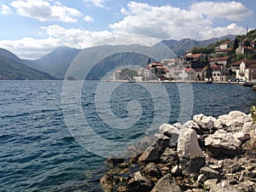
M0 191L101 191L104 158L161 123L256 104L239 84L63 83L0 81Z

